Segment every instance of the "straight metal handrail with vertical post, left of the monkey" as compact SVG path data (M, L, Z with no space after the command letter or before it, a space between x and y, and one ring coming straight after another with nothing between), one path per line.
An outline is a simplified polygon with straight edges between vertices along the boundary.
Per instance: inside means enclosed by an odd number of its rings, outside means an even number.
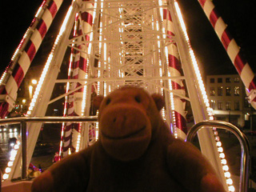
M26 122L44 122L44 123L62 123L62 122L97 122L97 116L83 116L83 117L20 117L20 118L3 118L0 119L2 124L20 124L21 125L21 138L22 138L22 179L26 179Z

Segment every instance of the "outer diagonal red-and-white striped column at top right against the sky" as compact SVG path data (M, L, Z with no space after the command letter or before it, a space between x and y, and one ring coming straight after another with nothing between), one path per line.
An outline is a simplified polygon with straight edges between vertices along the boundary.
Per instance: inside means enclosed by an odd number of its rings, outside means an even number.
M256 89L256 78L254 72L251 70L248 62L244 58L242 58L242 54L240 52L240 48L237 43L234 41L234 38L230 35L227 30L226 23L219 16L216 8L210 0L198 0L202 9L204 10L207 18L209 19L211 25L214 27L218 38L222 42L222 45L226 49L227 54L229 55L231 61L234 64L235 69L238 71L242 82L246 86L247 91ZM256 98L251 99L251 104L256 108Z

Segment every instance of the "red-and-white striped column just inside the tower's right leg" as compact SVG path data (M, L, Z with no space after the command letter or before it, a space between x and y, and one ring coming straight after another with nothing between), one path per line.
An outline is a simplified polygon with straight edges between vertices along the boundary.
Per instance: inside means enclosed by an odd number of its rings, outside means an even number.
M178 55L178 47L177 44L172 40L175 36L174 34L174 24L171 19L170 10L163 9L163 27L166 27L167 38L170 38L170 42L172 42L169 46L167 46L168 50L168 70L170 72L170 77L181 77L182 72L182 64L180 62L180 58ZM171 81L172 90L174 93L181 94L186 96L185 88L182 80L174 79ZM186 113L185 113L186 101L174 94L174 118L176 122L176 126L178 130L178 137L186 138L187 127L186 127ZM175 128L175 127L174 127Z

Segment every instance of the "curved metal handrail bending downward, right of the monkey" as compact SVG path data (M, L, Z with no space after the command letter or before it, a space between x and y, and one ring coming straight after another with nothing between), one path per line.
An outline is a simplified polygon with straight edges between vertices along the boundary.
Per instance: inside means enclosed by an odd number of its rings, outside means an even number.
M197 134L202 128L215 127L223 130L229 130L232 132L240 142L241 145L241 166L240 166L240 192L247 192L247 187L249 184L249 168L250 168L250 143L245 134L238 129L237 126L234 126L230 122L216 121L216 120L207 120L204 122L198 122L189 130L186 141L192 142L194 135Z

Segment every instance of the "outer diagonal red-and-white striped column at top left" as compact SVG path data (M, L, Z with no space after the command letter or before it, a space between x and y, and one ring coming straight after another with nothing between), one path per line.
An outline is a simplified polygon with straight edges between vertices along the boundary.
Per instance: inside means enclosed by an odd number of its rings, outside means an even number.
M0 117L5 118L14 107L17 98L18 87L21 85L34 55L37 53L42 39L50 28L54 16L57 14L62 0L43 1L35 15L26 34L24 34L17 50L6 71L1 78L0 94Z

